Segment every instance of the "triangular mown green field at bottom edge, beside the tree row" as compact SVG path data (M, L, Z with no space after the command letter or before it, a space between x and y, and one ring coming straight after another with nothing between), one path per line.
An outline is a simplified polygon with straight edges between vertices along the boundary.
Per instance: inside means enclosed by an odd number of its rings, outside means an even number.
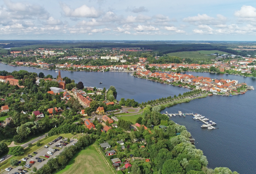
M96 144L93 144L77 153L65 169L57 174L115 174L115 172L99 154Z

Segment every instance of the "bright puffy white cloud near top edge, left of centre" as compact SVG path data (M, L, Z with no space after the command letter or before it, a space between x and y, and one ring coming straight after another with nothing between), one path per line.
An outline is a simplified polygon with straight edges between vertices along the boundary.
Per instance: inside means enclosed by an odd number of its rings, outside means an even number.
M66 17L73 17L73 18L79 18L79 17L99 17L101 14L99 11L97 11L94 7L88 7L87 5L82 5L76 9L70 8L67 4L60 2L61 8L64 11L64 15Z

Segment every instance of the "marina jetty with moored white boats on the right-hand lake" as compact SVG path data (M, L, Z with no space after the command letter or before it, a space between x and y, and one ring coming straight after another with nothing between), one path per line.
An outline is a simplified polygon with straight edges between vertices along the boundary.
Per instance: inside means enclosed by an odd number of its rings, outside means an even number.
M193 114L193 113L182 113L181 111L178 112L178 114L169 114L167 111L165 112L165 115L166 116L169 116L169 117L172 117L172 116L176 116L176 115L179 115L179 116L193 116L192 118L194 120L199 120L201 121L202 123L204 123L203 125L201 125L201 128L207 128L207 129L219 129L219 128L216 128L216 127L213 127L213 125L217 125L215 122L213 122L212 120L210 120L208 122L208 118L205 118L205 116L201 116L200 114Z

